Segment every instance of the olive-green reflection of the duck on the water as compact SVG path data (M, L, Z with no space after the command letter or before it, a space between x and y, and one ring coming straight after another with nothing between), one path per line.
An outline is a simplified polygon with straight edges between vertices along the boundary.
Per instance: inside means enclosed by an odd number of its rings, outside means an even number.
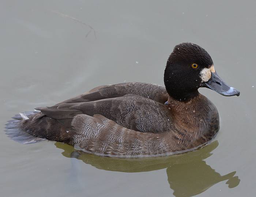
M152 158L102 157L76 151L68 144L56 142L55 145L64 150L62 154L65 157L82 160L98 169L136 173L167 168L170 188L177 197L195 196L221 181L226 181L229 188L236 187L240 183L240 179L234 176L236 171L220 175L204 161L212 155L211 151L218 147L218 141L196 151Z

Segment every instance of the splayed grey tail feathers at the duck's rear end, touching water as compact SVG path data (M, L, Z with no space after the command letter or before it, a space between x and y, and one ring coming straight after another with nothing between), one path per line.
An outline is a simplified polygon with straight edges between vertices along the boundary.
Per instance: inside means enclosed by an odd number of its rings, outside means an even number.
M22 121L27 120L36 113L38 113L38 111L26 111L25 113L16 114L14 117L12 117L13 120L8 121L5 126L6 135L12 140L22 144L31 144L45 140L41 137L35 137L29 134L31 132L22 128Z

